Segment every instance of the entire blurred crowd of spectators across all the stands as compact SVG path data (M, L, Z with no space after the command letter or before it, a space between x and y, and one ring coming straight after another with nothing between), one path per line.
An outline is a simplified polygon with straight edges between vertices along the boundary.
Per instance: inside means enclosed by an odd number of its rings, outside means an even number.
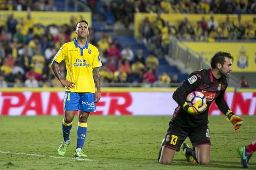
M168 70L159 72L159 60L168 53L171 37L214 41L215 39L255 39L256 17L242 22L241 14L255 14L255 0L80 0L90 7L92 21L133 26L134 13L158 13L153 21L144 18L139 26L140 36L148 51L131 49L128 42L119 42L113 32L97 30L89 23L88 41L98 47L103 67L103 83L166 84L182 81ZM25 18L17 20L13 14L0 17L0 87L58 87L50 63L59 48L76 37L75 25L83 19L70 17L66 24L44 26L34 21L30 11L64 11L58 0L0 0L0 10L27 11ZM81 10L78 8L78 11ZM225 13L224 21L214 16L202 17L194 26L185 17L178 28L161 18L162 13ZM237 14L230 21L229 14ZM112 19L109 19L112 18ZM125 30L124 30L125 32ZM111 34L111 35L110 35ZM60 64L65 77L65 63Z

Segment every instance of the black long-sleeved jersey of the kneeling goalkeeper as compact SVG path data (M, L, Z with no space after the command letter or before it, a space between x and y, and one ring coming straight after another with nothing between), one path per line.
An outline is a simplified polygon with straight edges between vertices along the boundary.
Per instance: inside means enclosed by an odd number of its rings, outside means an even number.
M191 73L172 96L179 106L175 109L169 124L182 127L198 127L208 124L208 110L213 100L222 113L228 112L229 107L224 100L227 85L226 78L216 79L212 74L212 69L202 69ZM183 110L186 96L192 91L202 92L207 100L207 110L198 115L188 114Z

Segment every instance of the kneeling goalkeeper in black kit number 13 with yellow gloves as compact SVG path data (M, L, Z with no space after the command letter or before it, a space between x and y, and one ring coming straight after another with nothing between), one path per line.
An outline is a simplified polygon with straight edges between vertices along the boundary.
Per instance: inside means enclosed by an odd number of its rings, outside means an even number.
M222 51L215 53L210 61L211 69L191 73L176 89L172 97L178 103L178 107L175 109L167 134L162 141L158 157L160 164L171 164L175 152L180 151L180 147L187 162L210 163L208 110L213 100L234 125L234 129L240 128L243 119L234 115L224 100L224 93L228 86L226 78L232 70L233 60L230 53ZM200 91L206 97L207 107L204 111L198 112L198 106L202 104L202 101L198 101L193 106L187 104L186 96L192 91ZM193 148L183 143L186 137L190 138Z

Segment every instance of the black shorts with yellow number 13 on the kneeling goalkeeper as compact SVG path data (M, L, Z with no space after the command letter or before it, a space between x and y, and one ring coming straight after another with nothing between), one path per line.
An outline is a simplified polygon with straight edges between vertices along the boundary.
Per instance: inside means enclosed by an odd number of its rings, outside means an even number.
M180 151L180 147L186 137L190 138L193 149L198 145L211 145L208 125L199 126L197 128L183 128L170 124L162 146Z

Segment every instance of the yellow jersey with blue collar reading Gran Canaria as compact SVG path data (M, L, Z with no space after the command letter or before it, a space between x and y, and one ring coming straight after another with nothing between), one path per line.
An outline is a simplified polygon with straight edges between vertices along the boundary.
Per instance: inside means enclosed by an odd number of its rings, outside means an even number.
M66 91L95 93L92 68L102 66L97 47L88 41L84 47L80 47L74 39L60 47L53 60L58 63L65 60L66 80L75 83L73 89L65 87Z

